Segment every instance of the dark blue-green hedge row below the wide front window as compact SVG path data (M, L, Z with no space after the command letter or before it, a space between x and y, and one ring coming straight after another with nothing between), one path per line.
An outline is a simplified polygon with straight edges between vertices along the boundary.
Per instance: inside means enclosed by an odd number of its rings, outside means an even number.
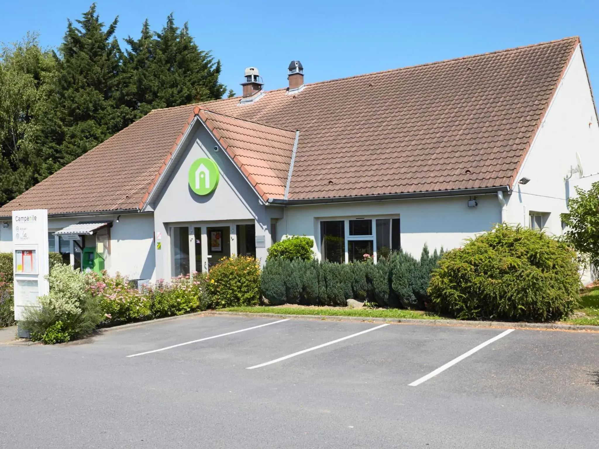
M425 308L426 288L439 258L425 245L420 260L400 251L376 265L270 259L262 270L262 295L270 304L345 306L353 298L382 307Z

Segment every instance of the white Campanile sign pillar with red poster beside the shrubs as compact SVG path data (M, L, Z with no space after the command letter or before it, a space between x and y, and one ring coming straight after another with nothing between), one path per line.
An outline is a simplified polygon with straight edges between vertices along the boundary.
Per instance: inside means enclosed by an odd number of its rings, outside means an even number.
M38 296L47 295L48 211L13 211L14 319L22 319L23 310L38 305ZM19 336L21 335L19 329Z

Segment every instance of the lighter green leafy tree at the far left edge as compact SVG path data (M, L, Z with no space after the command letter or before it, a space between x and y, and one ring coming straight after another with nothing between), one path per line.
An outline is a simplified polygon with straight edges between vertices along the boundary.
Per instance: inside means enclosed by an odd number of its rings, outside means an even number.
M35 136L55 73L52 54L41 49L36 34L0 52L0 205L37 181Z

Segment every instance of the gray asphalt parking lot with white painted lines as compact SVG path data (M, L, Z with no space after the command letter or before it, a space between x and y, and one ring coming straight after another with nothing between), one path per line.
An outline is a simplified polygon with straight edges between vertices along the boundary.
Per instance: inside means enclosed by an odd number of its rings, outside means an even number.
M195 316L0 345L2 448L597 448L598 423L599 333Z

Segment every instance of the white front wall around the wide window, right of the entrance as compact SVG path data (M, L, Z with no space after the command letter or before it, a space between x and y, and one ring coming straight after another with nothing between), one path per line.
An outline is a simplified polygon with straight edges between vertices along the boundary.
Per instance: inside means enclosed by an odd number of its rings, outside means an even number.
M313 250L320 257L320 220L395 215L400 217L401 247L420 257L426 243L429 250L462 246L464 239L491 229L501 221L497 196L476 198L477 207L468 207L468 196L450 198L363 201L285 208L279 233L307 235L314 239ZM346 236L347 239L347 236Z

